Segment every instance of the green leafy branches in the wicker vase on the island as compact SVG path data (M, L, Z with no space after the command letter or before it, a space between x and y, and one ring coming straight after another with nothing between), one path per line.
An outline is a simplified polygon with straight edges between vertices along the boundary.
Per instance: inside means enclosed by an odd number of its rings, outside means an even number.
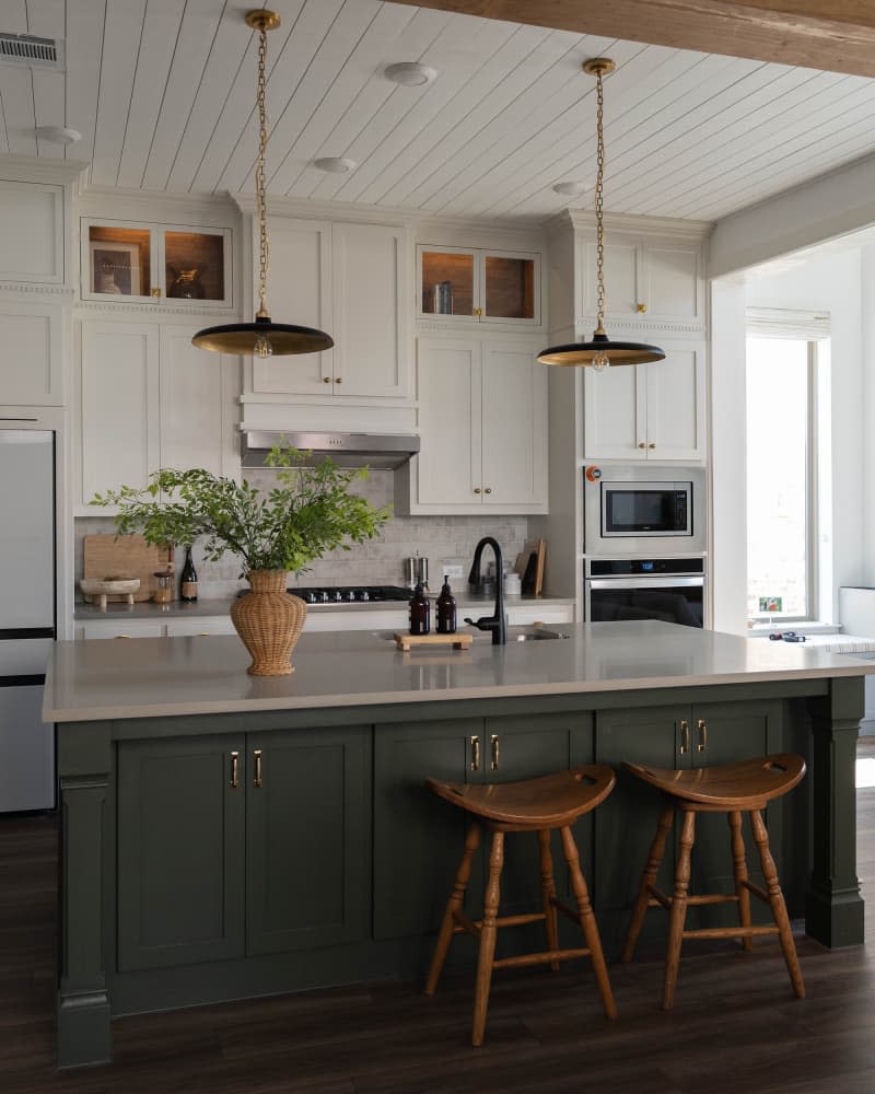
M252 570L301 573L327 551L349 542L373 539L392 515L349 492L368 468L347 470L330 458L305 466L298 449L275 446L265 463L278 468L277 486L266 494L245 479L237 485L196 467L162 469L143 489L122 486L95 493L93 505L116 505L119 535L139 532L150 544L192 544L205 537L205 556L217 561L226 551ZM161 497L168 500L160 500Z

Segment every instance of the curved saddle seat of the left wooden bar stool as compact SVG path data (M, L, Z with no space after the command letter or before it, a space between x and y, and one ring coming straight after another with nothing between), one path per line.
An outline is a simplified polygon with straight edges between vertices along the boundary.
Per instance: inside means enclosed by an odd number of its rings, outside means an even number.
M491 785L428 780L435 794L481 817L490 828L503 831L538 831L573 824L600 804L615 782L614 771L600 764L585 764L524 782Z

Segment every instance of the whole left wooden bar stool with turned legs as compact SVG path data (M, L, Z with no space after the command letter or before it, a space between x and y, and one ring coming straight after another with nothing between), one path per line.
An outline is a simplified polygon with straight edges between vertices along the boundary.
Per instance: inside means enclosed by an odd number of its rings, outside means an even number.
M593 971L598 990L602 992L605 1014L609 1019L617 1016L607 966L602 953L602 940L598 936L598 928L590 905L586 882L581 871L578 845L574 842L574 836L571 831L571 825L578 817L595 808L608 796L614 789L615 781L616 778L611 769L600 764L587 764L571 771L560 771L540 779L491 785L467 787L462 783L428 780L429 785L436 794L469 813L474 823L465 840L465 850L456 872L453 893L447 900L438 934L438 944L425 984L425 994L433 994L438 987L438 979L453 935L465 931L479 939L480 950L477 962L471 1032L471 1043L475 1046L483 1043L489 986L493 968L514 968L522 965L549 963L556 971L561 961L588 956L592 958ZM483 918L471 921L463 910L463 903L471 874L471 860L480 845L481 824L486 825L492 833L489 881L483 899ZM553 828L559 828L562 836L562 849L571 874L571 886L578 901L576 911L563 905L556 895L552 857L550 854L550 831ZM535 831L538 835L542 904L542 910L539 912L504 917L498 913L501 870L504 863L504 834L506 831ZM579 950L559 948L557 910L581 924L586 941L585 947ZM545 921L547 950L495 961L498 928L518 927L539 920Z

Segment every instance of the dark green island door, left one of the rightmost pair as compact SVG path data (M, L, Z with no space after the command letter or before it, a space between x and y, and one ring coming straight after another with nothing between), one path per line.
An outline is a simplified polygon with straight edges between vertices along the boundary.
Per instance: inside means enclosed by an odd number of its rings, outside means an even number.
M623 770L625 760L676 769L688 766L681 723L689 725L690 708L646 707L599 711L595 721L595 758L617 773L610 796L594 813L595 871L593 900L608 953L619 954L629 926L641 872L656 830L662 807L657 791ZM674 843L666 845L657 885L672 892L675 869ZM665 922L657 912L644 921L642 942L663 936Z

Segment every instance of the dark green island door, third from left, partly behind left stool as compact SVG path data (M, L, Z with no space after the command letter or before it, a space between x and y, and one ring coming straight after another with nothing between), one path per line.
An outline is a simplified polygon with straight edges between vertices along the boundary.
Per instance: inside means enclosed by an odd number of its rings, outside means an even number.
M429 790L425 780L482 782L488 748L479 718L375 728L374 938L438 930L466 825L462 810ZM482 908L480 863L478 856L466 899L469 911Z

